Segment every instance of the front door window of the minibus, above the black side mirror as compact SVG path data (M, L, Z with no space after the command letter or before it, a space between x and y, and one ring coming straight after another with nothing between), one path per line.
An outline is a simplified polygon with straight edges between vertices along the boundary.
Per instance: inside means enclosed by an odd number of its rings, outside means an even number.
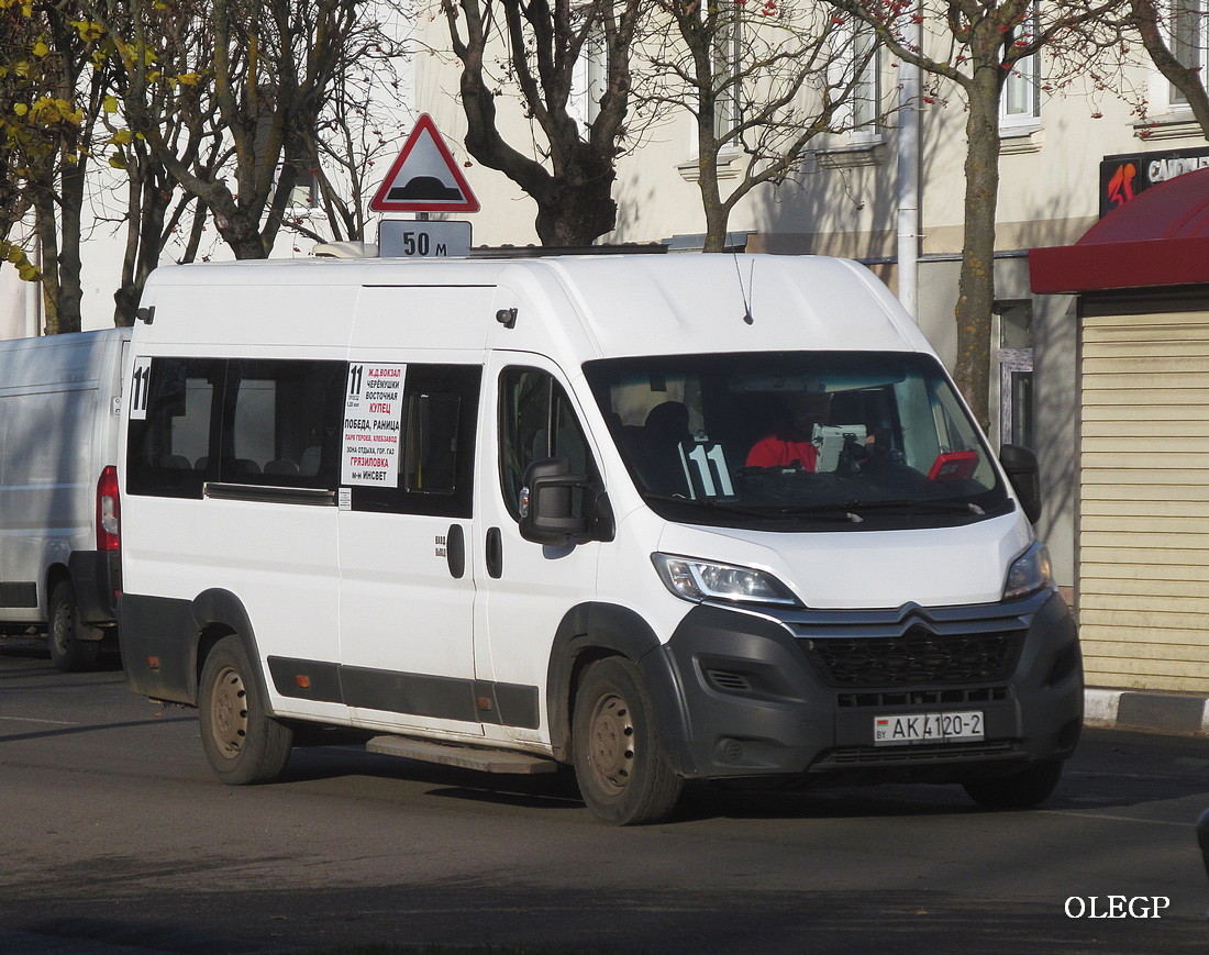
M499 487L517 521L525 470L543 458L567 458L573 474L596 474L562 386L537 369L505 369L499 376ZM578 497L575 505L582 507Z

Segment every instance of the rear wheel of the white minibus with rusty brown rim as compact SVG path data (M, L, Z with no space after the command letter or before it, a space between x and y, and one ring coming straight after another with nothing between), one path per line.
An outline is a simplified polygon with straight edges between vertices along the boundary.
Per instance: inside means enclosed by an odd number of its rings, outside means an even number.
M238 637L224 637L206 658L197 687L202 747L222 782L272 782L285 769L294 730L268 716L248 654Z

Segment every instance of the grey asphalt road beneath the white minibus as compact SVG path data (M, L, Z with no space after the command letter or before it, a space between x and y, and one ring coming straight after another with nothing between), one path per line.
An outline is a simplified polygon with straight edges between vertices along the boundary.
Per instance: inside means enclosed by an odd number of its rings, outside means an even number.
M956 787L701 787L669 824L612 829L568 779L349 747L229 788L193 711L0 638L0 953L1205 951L1205 808L1209 740L1112 730L1030 812Z

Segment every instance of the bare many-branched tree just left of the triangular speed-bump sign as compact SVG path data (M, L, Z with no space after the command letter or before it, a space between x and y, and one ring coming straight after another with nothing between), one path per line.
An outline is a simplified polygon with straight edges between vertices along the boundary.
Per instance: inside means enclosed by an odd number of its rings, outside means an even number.
M125 69L131 129L210 210L236 257L272 249L332 83L349 66L363 7L364 0L132 0L128 30L106 24ZM179 117L190 144L220 139L221 161L179 154L163 116Z

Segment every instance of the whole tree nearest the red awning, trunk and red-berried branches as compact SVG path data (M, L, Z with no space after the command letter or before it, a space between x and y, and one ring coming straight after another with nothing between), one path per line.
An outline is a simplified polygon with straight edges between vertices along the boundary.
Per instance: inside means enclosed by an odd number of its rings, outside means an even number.
M1042 51L1051 68L1086 63L1115 35L1122 0L826 0L870 25L901 60L955 86L966 105L965 235L955 317L954 377L979 422L989 422L991 311L995 303L995 213L999 116L1007 77ZM910 27L922 24L924 44ZM1103 40L1103 42L1106 42ZM1058 82L1054 79L1054 82Z

